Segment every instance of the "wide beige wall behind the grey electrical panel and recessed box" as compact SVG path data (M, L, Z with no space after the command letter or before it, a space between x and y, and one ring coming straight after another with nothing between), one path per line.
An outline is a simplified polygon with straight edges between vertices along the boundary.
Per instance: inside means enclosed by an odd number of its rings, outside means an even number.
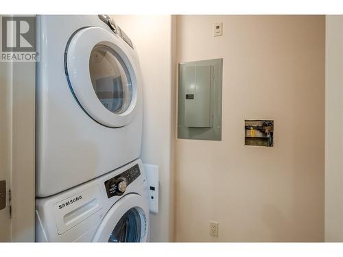
M178 62L224 72L222 141L176 140L176 241L324 241L324 16L177 23ZM274 147L244 146L244 119L273 119Z

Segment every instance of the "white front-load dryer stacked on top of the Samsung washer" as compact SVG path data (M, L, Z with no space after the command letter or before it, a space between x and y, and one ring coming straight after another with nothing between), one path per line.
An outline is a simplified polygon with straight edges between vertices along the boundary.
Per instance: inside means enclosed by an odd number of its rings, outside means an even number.
M109 16L38 16L36 196L47 197L139 157L137 52Z

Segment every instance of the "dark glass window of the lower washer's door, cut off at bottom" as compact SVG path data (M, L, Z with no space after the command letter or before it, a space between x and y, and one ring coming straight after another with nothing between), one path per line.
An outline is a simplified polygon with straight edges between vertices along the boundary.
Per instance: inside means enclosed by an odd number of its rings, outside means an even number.
M145 224L144 224L145 225ZM142 233L141 214L136 208L131 208L121 219L119 219L115 229L110 234L108 242L140 242Z

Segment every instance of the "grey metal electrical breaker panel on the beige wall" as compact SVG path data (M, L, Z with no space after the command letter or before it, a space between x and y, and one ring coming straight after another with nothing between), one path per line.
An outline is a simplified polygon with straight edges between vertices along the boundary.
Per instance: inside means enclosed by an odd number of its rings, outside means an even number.
M222 61L179 64L178 138L222 139Z

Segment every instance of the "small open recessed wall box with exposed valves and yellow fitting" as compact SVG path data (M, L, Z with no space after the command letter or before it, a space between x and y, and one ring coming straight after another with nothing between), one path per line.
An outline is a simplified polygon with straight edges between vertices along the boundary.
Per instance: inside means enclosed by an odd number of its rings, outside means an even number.
M274 145L274 121L246 120L245 144L272 147Z

